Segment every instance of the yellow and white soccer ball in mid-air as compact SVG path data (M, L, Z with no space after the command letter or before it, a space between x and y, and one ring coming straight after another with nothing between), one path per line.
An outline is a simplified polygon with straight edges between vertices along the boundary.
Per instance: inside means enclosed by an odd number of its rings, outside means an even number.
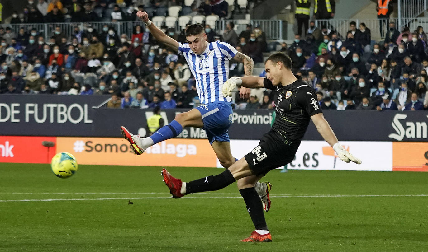
M52 172L59 178L71 177L76 173L77 167L76 158L68 152L59 152L52 158Z

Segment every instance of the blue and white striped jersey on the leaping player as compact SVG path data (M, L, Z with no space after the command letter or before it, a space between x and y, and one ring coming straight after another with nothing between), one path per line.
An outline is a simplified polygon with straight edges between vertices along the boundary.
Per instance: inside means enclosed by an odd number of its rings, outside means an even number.
M189 64L196 79L196 91L203 104L232 100L221 93L223 83L229 79L229 60L235 57L236 49L231 45L215 41L208 43L205 52L196 55L187 43L178 43L178 54Z

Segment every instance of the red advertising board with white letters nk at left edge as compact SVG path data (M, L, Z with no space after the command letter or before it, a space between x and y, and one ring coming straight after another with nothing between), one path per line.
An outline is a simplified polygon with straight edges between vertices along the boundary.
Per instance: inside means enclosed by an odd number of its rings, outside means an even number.
M42 141L55 143L56 138L0 136L0 163L51 163L55 147L44 147Z

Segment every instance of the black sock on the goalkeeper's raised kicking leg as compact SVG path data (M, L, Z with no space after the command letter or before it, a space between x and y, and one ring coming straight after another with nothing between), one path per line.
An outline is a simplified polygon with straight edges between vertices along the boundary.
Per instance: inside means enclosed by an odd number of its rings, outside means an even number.
M235 178L229 170L216 175L207 176L186 183L186 194L215 191L225 188L235 182Z

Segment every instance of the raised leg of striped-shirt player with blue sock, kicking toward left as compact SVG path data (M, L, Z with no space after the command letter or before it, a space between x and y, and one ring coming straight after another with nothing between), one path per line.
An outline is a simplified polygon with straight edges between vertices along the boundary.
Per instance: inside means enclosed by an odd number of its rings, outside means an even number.
M141 155L150 146L180 135L184 127L202 128L203 126L201 112L193 108L190 111L177 114L171 123L163 126L147 138L131 134L124 126L121 127L121 131L124 138L131 144L135 154Z

